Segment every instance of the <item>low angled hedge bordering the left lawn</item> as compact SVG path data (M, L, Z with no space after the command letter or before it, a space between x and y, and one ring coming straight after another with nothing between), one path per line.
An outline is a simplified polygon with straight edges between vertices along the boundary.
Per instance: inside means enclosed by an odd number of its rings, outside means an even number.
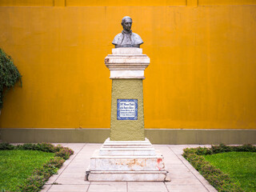
M66 159L74 154L73 150L63 146L54 146L50 143L42 142L38 144L25 143L23 145L13 146L9 143L0 143L0 150L41 150L44 152L54 153L55 157L51 158L42 167L34 170L33 174L26 179L26 182L18 186L18 191L34 192L41 190L42 186L52 174L57 174L58 168L62 166Z

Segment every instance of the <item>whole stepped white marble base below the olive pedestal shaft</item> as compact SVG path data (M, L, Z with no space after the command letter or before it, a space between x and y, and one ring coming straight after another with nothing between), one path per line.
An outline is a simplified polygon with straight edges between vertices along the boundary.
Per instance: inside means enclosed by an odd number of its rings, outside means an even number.
M90 158L89 181L166 181L162 154L150 141L110 141Z

